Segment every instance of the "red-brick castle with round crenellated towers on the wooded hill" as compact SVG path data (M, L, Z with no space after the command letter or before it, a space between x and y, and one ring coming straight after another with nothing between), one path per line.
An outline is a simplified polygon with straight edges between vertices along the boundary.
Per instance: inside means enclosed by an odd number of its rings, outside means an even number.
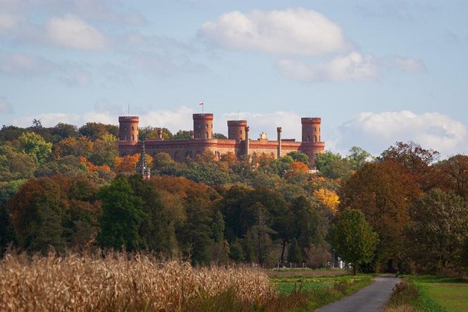
M176 161L184 161L187 157L195 157L204 151L214 153L218 161L223 154L233 152L238 158L252 158L255 154L273 154L276 158L285 156L291 151L302 151L309 156L309 165L314 168L316 154L325 150L325 142L321 141L321 118L301 118L302 142L295 139L282 139L281 127L277 127L276 141L269 140L262 132L259 139L250 139L247 120L228 120L228 139L213 138L213 114L194 113L193 131L190 139L163 139L161 131L158 138L138 139L138 116L121 116L118 118L118 151L121 156L141 153L143 149L148 154L166 152Z

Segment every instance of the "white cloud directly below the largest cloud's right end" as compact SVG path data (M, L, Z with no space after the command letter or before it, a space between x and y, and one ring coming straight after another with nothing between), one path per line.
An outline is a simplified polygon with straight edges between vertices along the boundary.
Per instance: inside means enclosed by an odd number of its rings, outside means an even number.
M302 81L376 80L377 65L372 56L352 52L326 63L306 63L283 59L278 61L281 74Z

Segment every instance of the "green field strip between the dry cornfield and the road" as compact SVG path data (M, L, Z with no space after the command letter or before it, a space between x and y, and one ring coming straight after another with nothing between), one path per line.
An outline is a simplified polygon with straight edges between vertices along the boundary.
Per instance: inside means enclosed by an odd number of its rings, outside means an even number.
M308 304L303 311L311 311L325 304L337 301L342 297L370 285L373 275L343 275L345 271L331 270L286 270L271 271L270 280L283 294L304 292ZM295 310L302 311L302 310Z

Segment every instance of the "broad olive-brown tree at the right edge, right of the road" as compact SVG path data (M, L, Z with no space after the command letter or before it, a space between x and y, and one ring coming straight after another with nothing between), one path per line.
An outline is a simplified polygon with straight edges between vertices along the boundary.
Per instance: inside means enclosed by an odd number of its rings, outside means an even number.
M454 192L432 189L412 204L409 249L421 268L436 271L462 263L468 237L468 204Z

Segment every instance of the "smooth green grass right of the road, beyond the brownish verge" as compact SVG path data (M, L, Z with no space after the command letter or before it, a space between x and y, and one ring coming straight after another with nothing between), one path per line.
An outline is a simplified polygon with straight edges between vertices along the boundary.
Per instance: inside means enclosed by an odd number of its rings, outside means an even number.
M433 276L411 277L411 280L420 289L421 308L433 301L440 311L468 311L468 281Z

